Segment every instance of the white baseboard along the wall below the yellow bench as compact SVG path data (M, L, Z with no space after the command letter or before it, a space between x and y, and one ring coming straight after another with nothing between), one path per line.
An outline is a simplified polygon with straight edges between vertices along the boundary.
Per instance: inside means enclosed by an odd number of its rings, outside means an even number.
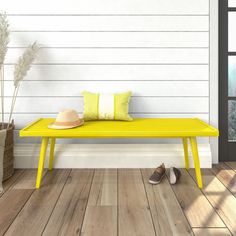
M17 144L15 167L36 168L40 146ZM48 150L49 151L49 150ZM191 152L190 166L193 167ZM47 155L48 156L48 155ZM210 144L199 144L201 167L211 168ZM165 163L167 167L184 167L181 144L57 144L55 168L154 168ZM48 158L45 162L47 167Z

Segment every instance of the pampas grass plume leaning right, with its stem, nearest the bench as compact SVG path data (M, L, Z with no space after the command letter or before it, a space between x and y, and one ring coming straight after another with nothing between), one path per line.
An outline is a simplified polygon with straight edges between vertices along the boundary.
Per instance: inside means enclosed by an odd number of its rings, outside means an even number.
M12 113L14 110L17 94L19 91L20 83L26 76L27 72L29 71L31 64L36 59L38 52L39 52L39 45L37 42L34 42L32 45L29 45L29 47L25 50L23 55L18 59L18 62L15 65L15 71L14 71L14 93L12 97L12 103L11 103L11 110L10 110L10 116L8 121L8 126L11 123L12 119Z

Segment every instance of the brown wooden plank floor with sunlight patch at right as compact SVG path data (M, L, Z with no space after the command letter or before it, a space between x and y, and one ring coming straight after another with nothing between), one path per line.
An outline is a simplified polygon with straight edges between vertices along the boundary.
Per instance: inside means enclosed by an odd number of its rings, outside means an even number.
M236 163L182 169L152 186L151 169L16 170L0 197L0 235L236 235ZM168 176L168 175L167 175Z

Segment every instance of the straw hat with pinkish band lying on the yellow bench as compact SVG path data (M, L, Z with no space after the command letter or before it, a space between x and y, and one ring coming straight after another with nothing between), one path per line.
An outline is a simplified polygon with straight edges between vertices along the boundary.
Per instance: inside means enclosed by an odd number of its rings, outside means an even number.
M84 124L75 110L67 109L58 113L55 122L48 125L50 129L71 129Z

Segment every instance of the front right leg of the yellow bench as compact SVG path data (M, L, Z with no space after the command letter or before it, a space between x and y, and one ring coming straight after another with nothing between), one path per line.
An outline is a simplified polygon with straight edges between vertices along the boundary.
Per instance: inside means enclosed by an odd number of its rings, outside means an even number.
M199 156L198 156L198 148L197 148L197 139L196 139L196 137L191 137L190 138L190 143L191 143L191 148L192 148L192 154L193 154L197 184L198 184L199 188L202 188L202 175L201 175L201 169L200 169L200 162L199 162Z

